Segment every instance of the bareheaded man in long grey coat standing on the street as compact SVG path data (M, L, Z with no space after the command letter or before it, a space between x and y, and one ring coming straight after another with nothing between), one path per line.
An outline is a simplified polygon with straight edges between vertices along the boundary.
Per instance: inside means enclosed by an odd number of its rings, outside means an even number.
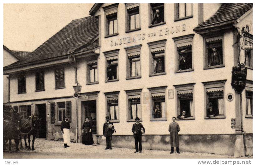
M173 153L174 147L176 147L177 153L180 153L179 150L179 135L178 132L180 131L180 126L178 123L175 122L176 118L172 117L172 123L169 125L169 132L170 132L170 143L171 143L171 152Z

